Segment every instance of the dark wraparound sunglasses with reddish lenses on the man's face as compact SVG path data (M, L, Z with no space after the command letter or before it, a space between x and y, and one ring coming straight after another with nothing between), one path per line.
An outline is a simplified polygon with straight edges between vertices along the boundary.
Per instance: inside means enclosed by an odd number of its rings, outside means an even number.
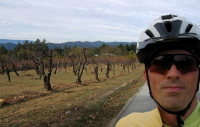
M162 54L147 62L146 67L150 72L165 74L173 64L186 74L198 70L199 60L189 54Z

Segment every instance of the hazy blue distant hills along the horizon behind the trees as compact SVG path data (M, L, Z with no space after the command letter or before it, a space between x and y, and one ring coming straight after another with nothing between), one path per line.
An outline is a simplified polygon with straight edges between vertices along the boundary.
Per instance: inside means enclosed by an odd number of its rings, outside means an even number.
M21 44L24 43L25 40L7 40L7 39L0 39L0 47L3 45L6 49L12 50L14 47L17 46L18 42ZM55 47L85 47L85 48L94 48L102 46L102 44L106 44L109 46L117 47L118 45L131 45L136 42L102 42L102 41L95 41L95 42L81 42L81 41L75 41L75 42L65 42L65 43L47 43L50 49L53 49Z

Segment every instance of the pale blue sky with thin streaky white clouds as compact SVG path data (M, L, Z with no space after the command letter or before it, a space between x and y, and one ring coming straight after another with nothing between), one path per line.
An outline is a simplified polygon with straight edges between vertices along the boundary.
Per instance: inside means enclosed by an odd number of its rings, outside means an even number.
M0 39L136 42L150 22L166 14L200 25L200 1L0 0Z

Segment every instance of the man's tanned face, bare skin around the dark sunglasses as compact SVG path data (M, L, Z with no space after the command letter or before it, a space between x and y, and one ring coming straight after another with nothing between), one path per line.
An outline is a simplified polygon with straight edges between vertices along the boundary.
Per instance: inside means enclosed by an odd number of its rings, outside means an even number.
M185 50L168 50L160 54L190 54ZM198 67L195 70L183 73L175 64L165 73L148 69L150 88L155 100L170 111L183 110L194 97L197 87ZM145 79L147 80L146 73Z

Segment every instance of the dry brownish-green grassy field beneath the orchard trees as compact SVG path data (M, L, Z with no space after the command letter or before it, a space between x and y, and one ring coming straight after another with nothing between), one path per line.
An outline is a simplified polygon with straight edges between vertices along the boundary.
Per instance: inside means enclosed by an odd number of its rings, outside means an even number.
M143 66L121 75L121 66L115 74L105 78L105 67L99 71L100 82L95 80L92 66L84 73L82 82L75 83L71 68L52 74L53 91L43 89L43 81L35 71L11 73L11 82L0 75L0 126L21 127L104 127L114 118L127 100L141 85Z

